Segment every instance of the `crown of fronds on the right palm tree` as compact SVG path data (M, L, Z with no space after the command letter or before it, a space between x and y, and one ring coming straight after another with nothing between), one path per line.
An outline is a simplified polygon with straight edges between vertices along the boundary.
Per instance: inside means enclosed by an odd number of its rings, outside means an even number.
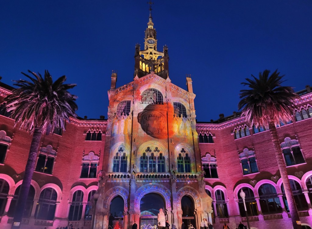
M246 78L247 82L242 82L250 89L241 90L241 98L238 109L242 109L242 115L251 125L268 127L268 122L275 124L288 122L294 113L296 106L294 100L299 98L292 87L281 86L285 80L280 72L265 70L259 73L259 77L251 75L253 79Z

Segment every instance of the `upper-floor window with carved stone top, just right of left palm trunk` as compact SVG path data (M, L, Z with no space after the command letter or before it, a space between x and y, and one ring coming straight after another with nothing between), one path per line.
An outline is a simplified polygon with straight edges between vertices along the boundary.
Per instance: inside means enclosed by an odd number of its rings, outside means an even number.
M56 151L52 149L51 145L42 147L40 149L35 171L52 174L55 157Z

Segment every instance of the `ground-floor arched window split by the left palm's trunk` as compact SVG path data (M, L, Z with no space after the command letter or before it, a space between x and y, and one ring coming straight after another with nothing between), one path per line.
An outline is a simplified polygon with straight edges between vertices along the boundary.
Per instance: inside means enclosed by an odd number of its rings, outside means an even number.
M21 192L21 185L18 186L15 190L13 199L12 199L11 204L10 204L9 211L7 212L7 215L9 217L14 216L15 209L17 208L17 199L18 199L18 196L20 195L20 192ZM34 197L35 197L35 188L32 187L32 185L31 185L29 188L28 197L27 197L27 201L26 201L26 206L24 208L23 217L27 217L27 218L30 217L30 215L32 213L32 206L34 204Z

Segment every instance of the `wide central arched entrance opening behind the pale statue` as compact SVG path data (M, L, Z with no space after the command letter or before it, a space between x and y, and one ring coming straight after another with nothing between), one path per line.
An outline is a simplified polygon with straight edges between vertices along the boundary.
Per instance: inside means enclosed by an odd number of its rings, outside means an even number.
M140 229L151 229L157 225L159 209L165 212L165 200L157 193L148 193L142 197L140 202Z

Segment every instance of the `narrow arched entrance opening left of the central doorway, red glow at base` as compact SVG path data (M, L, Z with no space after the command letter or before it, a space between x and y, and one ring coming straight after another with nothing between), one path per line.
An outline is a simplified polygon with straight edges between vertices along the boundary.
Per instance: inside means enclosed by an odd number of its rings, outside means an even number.
M109 229L123 228L124 225L124 200L116 196L110 202L110 218L108 221Z

